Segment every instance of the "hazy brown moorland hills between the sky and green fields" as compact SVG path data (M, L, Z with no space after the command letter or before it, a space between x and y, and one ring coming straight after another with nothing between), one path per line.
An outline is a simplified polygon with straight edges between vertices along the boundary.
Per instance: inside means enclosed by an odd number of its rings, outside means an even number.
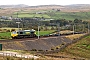
M14 12L17 12L17 11L31 11L31 10L37 10L39 12L41 10L49 10L49 11L50 10L53 10L53 11L60 10L60 12L90 12L90 4L72 4L72 5L65 5L65 6L63 5L28 6L24 4L0 5L0 16L13 14Z

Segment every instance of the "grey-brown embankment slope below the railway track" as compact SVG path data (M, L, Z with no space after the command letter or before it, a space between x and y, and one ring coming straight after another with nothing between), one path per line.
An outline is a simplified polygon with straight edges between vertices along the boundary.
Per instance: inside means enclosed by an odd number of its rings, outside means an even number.
M9 39L0 40L3 49L14 50L35 50L37 53L54 53L58 52L66 46L76 42L77 40L70 40L65 36L49 36L38 38L23 38L23 39Z

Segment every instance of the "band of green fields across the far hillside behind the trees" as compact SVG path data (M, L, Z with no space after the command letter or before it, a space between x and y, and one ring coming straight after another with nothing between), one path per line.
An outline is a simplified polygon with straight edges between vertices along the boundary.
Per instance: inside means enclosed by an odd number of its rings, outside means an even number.
M42 12L42 11L40 11ZM14 17L17 17L17 13L14 13ZM81 20L89 20L90 19L90 12L51 12L46 11L46 13L42 14L35 14L35 12L20 12L18 13L18 17L44 17L44 18L52 18L52 19L66 19L66 20L74 20L74 19L81 19Z

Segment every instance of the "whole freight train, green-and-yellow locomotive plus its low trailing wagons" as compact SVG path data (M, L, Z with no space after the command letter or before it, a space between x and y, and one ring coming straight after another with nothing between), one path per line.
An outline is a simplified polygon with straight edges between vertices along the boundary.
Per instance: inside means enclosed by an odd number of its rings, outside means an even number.
M62 35L71 35L71 34L81 34L82 32L74 32L74 31L55 31L51 34L47 35L41 35L40 37L50 37L50 36L62 36ZM11 32L12 39L18 39L18 38L36 38L36 31L34 29L32 30L18 30Z

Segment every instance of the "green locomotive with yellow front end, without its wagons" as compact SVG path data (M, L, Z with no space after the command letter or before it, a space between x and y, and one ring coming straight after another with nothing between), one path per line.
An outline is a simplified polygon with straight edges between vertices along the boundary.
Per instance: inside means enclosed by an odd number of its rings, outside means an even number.
M32 30L12 31L11 37L12 37L12 39L17 39L17 38L34 38L37 36L36 36L36 31L34 29L32 29Z

